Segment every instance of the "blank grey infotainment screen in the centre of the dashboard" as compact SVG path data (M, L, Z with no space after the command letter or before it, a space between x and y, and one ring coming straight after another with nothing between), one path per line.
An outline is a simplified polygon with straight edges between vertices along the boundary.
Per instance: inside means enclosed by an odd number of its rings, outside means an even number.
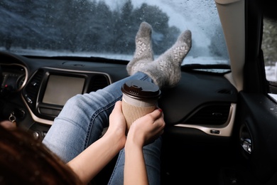
M70 97L82 94L85 78L63 75L49 75L43 96L43 103L65 105Z

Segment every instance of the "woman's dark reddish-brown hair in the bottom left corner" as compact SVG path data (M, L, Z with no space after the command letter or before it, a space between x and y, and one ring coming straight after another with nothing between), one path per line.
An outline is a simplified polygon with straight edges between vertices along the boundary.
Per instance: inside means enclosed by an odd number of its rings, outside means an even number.
M0 126L0 184L82 184L60 158L31 134Z

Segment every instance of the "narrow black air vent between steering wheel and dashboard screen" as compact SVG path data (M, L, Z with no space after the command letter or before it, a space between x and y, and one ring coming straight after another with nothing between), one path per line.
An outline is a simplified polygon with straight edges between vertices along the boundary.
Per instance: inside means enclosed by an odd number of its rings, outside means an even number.
M38 97L38 90L40 88L40 83L43 78L43 70L38 70L30 82L26 85L24 89L24 97L26 98L29 105L36 104L36 98Z

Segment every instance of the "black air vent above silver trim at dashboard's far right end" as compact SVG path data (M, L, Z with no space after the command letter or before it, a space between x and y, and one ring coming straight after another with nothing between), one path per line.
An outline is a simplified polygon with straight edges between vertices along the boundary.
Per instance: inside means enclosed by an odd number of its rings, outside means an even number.
M185 124L223 125L229 117L231 104L207 105L197 110Z

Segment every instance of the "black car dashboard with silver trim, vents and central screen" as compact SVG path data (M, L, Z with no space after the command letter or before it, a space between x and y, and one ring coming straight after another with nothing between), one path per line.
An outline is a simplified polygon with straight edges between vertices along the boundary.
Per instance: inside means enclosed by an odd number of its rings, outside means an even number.
M126 78L126 61L96 58L35 58L0 53L1 99L23 113L17 123L43 139L66 100ZM229 137L237 90L222 74L183 71L175 88L159 100L168 127L192 128ZM74 108L74 107L72 107ZM9 112L6 113L9 115Z

